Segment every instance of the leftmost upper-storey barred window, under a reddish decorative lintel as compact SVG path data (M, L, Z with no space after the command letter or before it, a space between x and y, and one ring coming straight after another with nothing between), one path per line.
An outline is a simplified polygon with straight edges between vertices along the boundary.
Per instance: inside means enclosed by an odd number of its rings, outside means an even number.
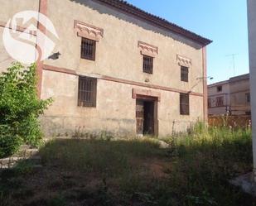
M82 38L81 58L95 60L96 41Z

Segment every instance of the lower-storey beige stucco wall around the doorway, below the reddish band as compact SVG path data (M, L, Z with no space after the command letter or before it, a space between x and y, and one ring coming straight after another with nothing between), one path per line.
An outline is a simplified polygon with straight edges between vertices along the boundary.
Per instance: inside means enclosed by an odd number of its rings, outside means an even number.
M66 132L70 135L79 128L84 132L135 135L136 99L132 98L132 89L144 88L98 79L97 108L80 108L77 107L78 76L45 70L43 77L42 98L54 98L53 105L42 117L46 136L65 135ZM202 119L202 97L191 96L191 115L181 117L179 93L151 90L161 93L157 111L161 136L171 134L172 128L175 132L184 131L191 122Z

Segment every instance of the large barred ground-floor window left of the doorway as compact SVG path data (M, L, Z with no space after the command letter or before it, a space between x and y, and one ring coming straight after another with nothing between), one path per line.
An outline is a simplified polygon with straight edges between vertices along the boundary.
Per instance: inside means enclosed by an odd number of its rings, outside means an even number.
M78 106L96 108L97 79L79 77Z

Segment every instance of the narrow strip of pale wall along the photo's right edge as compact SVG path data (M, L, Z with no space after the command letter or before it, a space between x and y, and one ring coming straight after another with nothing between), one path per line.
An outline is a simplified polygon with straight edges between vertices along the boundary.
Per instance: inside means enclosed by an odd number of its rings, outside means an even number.
M248 0L249 67L253 126L254 181L256 182L256 1Z

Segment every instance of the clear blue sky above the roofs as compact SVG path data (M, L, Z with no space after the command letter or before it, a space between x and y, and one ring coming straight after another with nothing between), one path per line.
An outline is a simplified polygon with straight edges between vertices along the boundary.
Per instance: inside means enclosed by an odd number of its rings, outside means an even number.
M249 73L246 0L127 0L214 41L207 48L209 84Z

